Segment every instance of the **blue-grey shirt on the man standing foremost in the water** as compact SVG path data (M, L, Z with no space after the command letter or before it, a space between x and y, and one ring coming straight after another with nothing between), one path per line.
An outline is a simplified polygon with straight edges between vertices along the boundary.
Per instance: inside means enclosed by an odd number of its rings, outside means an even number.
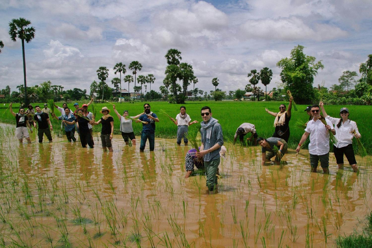
M211 148L216 143L218 143L218 145L221 145L221 146L224 145L224 136L222 135L221 125L219 125L219 123L215 123L211 128L212 130L211 130L211 137L209 138L209 142L207 142L206 140L206 129L202 128L200 130L201 137L202 137L202 143L204 144L204 150ZM209 152L208 154L205 154L204 161L209 162L209 161L219 158L219 151L221 151L221 147L218 149L215 149L212 152Z

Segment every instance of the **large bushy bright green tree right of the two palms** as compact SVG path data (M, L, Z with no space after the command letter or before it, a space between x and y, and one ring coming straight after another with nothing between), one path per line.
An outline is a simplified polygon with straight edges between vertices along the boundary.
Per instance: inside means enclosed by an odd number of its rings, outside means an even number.
M314 99L312 84L319 69L324 65L321 61L315 62L315 57L304 54L304 46L295 46L291 51L291 57L282 58L276 64L282 69L280 78L286 85L285 90L291 90L296 103L307 104Z

